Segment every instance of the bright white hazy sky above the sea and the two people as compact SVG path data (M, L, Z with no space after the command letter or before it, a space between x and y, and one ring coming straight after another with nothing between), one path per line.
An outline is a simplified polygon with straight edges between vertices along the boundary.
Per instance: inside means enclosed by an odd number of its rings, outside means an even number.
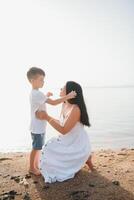
M133 11L133 0L0 1L1 142L28 131L30 67L46 72L44 92L134 85Z

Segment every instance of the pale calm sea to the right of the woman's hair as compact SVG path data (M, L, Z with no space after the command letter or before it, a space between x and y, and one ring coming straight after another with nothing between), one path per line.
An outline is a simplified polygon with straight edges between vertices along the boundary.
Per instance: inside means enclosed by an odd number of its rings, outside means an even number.
M93 149L134 147L134 88L85 91Z

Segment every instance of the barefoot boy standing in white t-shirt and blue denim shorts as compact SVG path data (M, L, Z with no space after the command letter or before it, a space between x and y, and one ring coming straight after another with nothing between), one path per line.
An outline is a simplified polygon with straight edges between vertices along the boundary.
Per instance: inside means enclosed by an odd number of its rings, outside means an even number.
M42 146L44 145L44 137L46 133L46 121L39 120L35 116L35 112L37 110L46 110L46 103L51 105L60 104L68 99L74 98L76 93L72 91L65 97L53 100L50 99L49 96L52 93L48 93L44 95L39 88L42 88L44 85L45 72L37 67L32 67L27 72L27 78L32 86L32 91L30 94L30 104L31 104L31 125L30 132L32 137L32 151L30 153L30 168L29 172L35 175L40 175L39 171L39 159L40 159L40 151Z

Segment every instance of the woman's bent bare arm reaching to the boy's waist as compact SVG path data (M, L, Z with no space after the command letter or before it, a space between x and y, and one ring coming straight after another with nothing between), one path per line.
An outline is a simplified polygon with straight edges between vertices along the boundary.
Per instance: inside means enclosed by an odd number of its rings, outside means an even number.
M71 129L75 126L77 122L80 120L80 109L75 106L71 114L69 115L68 119L65 121L64 126L61 126L59 122L57 122L56 119L49 116L46 112L38 111L36 112L36 116L39 119L45 119L48 121L48 123L57 131L62 133L63 135L71 131Z

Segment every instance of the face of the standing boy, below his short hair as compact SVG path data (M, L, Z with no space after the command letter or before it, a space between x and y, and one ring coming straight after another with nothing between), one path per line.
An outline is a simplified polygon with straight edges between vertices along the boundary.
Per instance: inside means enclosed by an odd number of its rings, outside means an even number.
M31 80L31 84L34 88L42 88L44 85L44 76L37 75L34 79Z

